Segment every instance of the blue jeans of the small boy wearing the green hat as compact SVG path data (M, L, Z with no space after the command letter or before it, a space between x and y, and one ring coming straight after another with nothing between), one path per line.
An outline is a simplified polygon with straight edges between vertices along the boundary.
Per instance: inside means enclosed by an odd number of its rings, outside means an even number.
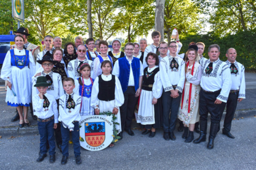
M46 142L49 141L49 155L55 154L55 138L54 138L54 119L49 122L37 121L38 131L40 135L40 154L47 153Z

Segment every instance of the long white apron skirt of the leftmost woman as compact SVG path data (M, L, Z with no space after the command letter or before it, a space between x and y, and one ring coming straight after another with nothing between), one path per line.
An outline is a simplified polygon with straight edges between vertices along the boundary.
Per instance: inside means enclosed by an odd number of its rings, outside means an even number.
M12 90L7 88L5 102L11 104L25 105L31 103L31 72L28 66L20 69L16 66L11 67Z

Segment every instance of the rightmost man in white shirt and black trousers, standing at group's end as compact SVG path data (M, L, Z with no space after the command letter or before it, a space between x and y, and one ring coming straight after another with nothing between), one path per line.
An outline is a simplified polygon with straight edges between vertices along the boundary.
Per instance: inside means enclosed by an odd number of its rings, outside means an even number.
M225 115L225 120L223 124L224 128L222 129L222 134L227 135L232 139L234 139L235 137L230 133L230 129L231 129L231 122L235 115L237 101L240 102L243 99L245 99L244 66L243 64L238 63L236 61L236 55L237 54L236 54L235 48L229 48L226 52L226 56L228 58L226 63L230 68L232 83L231 83L231 89L228 95L226 115ZM220 109L221 110L220 120L224 112L225 106L226 105L223 105L223 107L221 107ZM220 130L220 124L219 124L218 131L219 130Z

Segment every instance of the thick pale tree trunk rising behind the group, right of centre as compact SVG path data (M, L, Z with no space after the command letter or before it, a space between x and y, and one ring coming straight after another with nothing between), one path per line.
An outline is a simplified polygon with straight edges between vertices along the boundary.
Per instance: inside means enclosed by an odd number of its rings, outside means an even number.
M165 0L156 0L155 29L160 32L160 41L164 41L164 4Z

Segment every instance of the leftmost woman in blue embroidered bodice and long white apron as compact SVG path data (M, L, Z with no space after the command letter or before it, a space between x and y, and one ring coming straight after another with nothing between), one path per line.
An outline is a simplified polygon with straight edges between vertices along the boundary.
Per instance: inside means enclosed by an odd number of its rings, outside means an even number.
M1 78L7 80L6 99L8 106L17 107L20 115L19 126L30 126L28 122L28 106L31 103L31 81L35 74L35 62L30 51L23 49L24 39L20 35L14 37L16 48L7 52ZM22 115L24 111L24 117Z

